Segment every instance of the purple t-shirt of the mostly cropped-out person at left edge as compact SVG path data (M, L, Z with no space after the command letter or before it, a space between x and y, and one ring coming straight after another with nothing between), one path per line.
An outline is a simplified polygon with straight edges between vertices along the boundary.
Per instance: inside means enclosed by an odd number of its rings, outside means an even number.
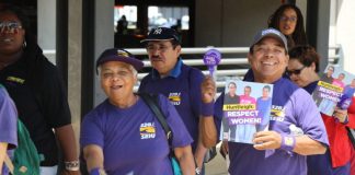
M7 142L8 149L18 145L18 110L5 89L0 86L0 142ZM2 174L7 174L2 165Z

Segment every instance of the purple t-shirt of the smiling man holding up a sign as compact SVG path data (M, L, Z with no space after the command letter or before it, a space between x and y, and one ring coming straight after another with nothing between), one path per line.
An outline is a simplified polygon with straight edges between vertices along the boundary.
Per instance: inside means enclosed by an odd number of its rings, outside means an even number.
M329 145L327 131L320 113L311 96L287 79L274 82L274 95L268 130L291 135L290 125L300 128L305 135ZM216 105L220 106L220 100ZM222 101L221 101L222 102ZM216 109L216 106L215 106ZM221 110L218 107L218 110ZM221 112L216 113L221 114ZM287 174L306 175L306 156L277 149L265 158L265 151L259 151L252 144L229 142L230 174Z

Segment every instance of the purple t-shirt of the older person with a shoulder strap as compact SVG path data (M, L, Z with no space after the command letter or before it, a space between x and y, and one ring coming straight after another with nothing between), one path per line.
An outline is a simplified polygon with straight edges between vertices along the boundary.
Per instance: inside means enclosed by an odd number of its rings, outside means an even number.
M193 141L174 106L159 95L160 107L173 132L172 147ZM107 100L90 112L81 127L80 144L103 149L104 168L110 175L172 174L165 132L145 102L118 108Z

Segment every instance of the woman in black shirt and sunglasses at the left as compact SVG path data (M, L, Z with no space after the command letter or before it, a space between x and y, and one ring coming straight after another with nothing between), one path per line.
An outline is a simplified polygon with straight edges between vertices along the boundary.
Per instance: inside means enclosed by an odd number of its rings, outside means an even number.
M64 174L80 174L76 139L62 80L43 55L26 15L11 4L0 5L0 83L19 110L38 153L41 174L55 175L59 143Z

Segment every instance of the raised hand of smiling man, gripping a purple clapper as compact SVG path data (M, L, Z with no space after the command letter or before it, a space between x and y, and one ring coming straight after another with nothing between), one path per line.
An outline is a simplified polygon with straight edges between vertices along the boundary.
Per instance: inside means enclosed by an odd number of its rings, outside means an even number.
M203 103L211 103L216 95L216 83L209 75L205 78L201 85Z

